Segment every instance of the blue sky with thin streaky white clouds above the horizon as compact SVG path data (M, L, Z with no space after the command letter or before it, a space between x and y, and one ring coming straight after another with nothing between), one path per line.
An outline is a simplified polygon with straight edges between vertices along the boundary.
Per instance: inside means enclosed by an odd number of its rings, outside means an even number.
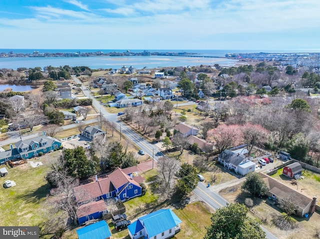
M320 0L0 0L0 48L320 49Z

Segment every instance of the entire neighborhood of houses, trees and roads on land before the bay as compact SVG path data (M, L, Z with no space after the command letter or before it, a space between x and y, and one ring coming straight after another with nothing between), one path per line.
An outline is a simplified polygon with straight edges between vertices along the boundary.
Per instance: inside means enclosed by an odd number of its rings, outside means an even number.
M0 226L44 239L319 238L319 71L271 56L0 69L1 84L30 85L0 92Z

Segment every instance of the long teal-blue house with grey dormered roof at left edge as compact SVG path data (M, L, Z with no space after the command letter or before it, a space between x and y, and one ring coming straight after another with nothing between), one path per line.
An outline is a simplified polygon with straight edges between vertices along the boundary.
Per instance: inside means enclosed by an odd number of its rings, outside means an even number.
M61 142L52 137L43 135L34 138L19 140L13 146L10 144L10 149L0 152L0 164L8 160L29 159L38 155L39 152L47 153L58 149Z

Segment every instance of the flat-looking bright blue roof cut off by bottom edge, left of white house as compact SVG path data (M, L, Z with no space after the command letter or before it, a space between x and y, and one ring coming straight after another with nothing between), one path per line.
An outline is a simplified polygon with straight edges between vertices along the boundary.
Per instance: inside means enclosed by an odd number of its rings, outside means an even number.
M105 221L100 221L76 230L79 239L105 239L111 237Z

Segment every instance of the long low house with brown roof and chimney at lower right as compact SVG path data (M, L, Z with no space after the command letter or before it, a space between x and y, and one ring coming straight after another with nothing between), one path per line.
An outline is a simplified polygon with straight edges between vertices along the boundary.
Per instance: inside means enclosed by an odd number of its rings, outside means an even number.
M290 202L294 203L296 206L295 215L299 217L303 217L305 214L312 214L315 211L316 197L310 198L307 195L287 187L266 174L260 172L258 174L268 187L266 195L275 203L290 200Z

